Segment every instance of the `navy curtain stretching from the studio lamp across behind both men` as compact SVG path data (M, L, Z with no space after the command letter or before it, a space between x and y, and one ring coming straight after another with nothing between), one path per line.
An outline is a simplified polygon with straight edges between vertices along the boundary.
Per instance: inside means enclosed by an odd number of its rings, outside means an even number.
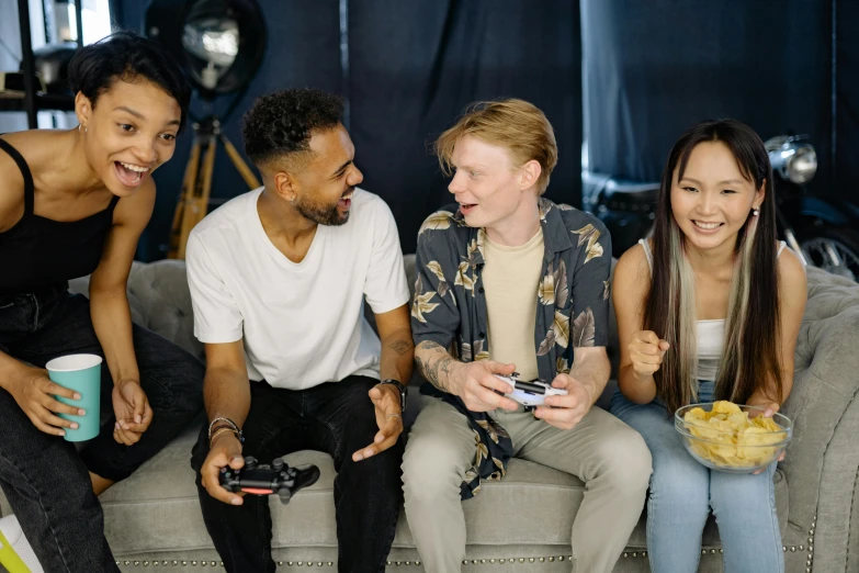
M547 196L580 204L581 53L578 2L570 0L351 0L349 80L340 66L338 0L260 0L268 50L224 130L242 149L241 114L263 93L315 87L347 96L361 187L391 205L403 250L415 250L423 218L452 200L428 146L475 100L523 98L552 122L560 164ZM123 0L124 27L143 32L149 2ZM223 113L230 98L215 103ZM202 114L202 102L193 111ZM190 132L190 131L189 131ZM183 134L155 175L158 200L138 258L162 258L190 153ZM223 149L213 207L247 189Z

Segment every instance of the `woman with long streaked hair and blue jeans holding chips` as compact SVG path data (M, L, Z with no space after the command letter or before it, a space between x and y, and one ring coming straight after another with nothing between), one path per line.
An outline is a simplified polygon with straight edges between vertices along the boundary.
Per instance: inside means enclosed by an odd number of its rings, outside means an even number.
M760 137L734 120L694 126L665 166L653 237L621 257L613 279L621 366L611 411L653 454L654 572L698 571L711 509L725 571L783 571L776 463L757 474L711 471L686 451L672 414L714 400L778 412L805 299L802 262L777 240Z

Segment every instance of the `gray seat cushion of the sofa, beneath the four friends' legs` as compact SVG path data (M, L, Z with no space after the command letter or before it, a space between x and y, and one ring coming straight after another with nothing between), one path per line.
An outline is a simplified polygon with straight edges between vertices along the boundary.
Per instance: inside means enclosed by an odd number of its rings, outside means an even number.
M187 553L207 549L212 541L203 524L190 465L191 448L199 427L189 428L158 456L101 497L108 541L117 558L148 552ZM337 547L334 507L334 463L321 452L301 451L284 457L291 465L315 463L319 481L296 494L289 505L270 498L272 547ZM573 518L581 504L584 484L576 478L524 460L511 460L501 482L485 482L481 494L464 502L470 546L517 544L569 547ZM788 488L776 474L776 503L784 528ZM541 512L539 508L563 508ZM415 542L400 516L394 548L414 548ZM629 547L644 549L644 518ZM704 531L704 547L717 548L713 519Z

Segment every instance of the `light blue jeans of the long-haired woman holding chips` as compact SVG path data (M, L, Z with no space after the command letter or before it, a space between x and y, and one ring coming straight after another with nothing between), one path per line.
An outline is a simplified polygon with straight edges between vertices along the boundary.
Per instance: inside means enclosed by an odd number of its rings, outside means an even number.
M713 382L701 381L699 401L713 400ZM692 458L657 400L634 404L620 391L611 413L642 435L653 456L647 498L647 552L654 573L692 573L710 512L724 548L725 572L781 573L784 555L776 517L773 463L758 475L711 471Z

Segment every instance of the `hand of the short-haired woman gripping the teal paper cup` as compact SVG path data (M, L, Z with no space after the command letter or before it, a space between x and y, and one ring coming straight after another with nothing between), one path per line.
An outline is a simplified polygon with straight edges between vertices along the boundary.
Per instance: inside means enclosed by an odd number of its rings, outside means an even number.
M81 408L69 406L59 402L54 396L63 396L69 400L80 400L80 394L74 390L63 387L48 378L47 370L24 366L13 374L7 386L18 405L24 411L30 422L52 436L65 436L63 428L77 429L78 423L60 418L57 414L71 414L83 416Z

